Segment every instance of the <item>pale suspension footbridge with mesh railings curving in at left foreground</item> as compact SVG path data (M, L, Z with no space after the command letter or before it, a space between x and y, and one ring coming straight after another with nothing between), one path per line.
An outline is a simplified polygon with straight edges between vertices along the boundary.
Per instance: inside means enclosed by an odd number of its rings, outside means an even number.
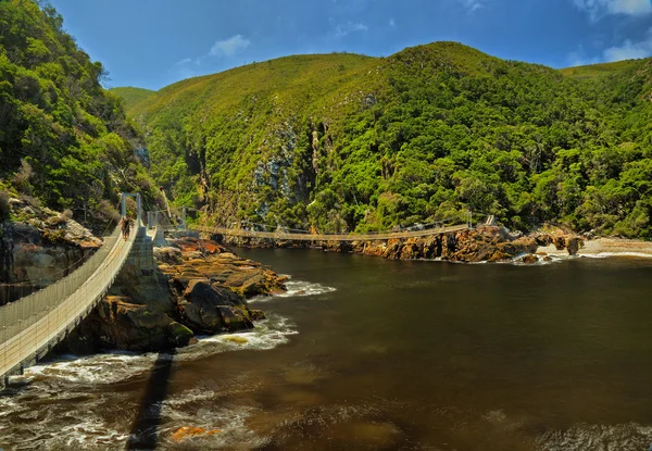
M90 312L125 263L138 234L118 239L120 227L80 267L57 283L0 306L0 376L55 343ZM0 384L1 385L1 384Z

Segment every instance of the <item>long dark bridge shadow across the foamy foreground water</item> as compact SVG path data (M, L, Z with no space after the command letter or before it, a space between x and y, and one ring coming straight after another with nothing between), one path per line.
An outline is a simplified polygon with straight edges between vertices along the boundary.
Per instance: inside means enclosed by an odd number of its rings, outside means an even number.
M153 450L156 448L161 410L167 397L174 351L160 353L147 383L138 415L131 426L127 450Z

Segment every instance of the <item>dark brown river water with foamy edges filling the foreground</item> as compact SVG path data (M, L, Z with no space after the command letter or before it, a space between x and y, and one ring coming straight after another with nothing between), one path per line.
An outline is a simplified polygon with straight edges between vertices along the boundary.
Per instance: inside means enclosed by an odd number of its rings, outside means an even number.
M0 448L652 444L652 260L237 252L291 276L288 295L252 302L268 320L247 341L33 367L0 396ZM184 426L203 433L178 439Z

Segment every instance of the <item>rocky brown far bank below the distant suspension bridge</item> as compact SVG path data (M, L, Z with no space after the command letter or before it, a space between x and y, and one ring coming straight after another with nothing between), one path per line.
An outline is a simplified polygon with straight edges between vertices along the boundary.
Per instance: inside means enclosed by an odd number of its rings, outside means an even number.
M504 227L480 226L474 229L442 233L421 238L384 241L292 241L265 238L210 236L227 246L244 248L321 248L330 252L355 252L390 260L441 260L450 262L536 263L550 256L541 251L552 247L556 253L576 255L586 239L561 231L528 236L510 234Z

